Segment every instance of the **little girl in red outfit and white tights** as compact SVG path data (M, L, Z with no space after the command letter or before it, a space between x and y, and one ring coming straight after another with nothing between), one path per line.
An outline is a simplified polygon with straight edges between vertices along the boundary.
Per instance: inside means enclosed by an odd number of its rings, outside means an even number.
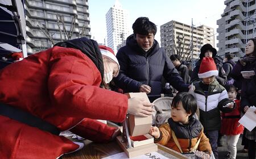
M228 158L235 159L237 156L237 142L243 132L243 126L238 123L240 120L240 100L237 97L237 88L234 85L226 85L229 99L236 103L236 108L232 112L222 113L221 134L226 135L228 145Z

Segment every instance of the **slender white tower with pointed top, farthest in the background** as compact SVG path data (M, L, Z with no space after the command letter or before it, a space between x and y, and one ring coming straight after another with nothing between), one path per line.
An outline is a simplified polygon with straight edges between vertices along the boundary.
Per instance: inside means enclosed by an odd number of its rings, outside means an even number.
M117 52L117 46L123 43L129 36L128 28L128 12L122 9L118 0L115 1L113 7L106 13L106 29L108 36L108 47Z

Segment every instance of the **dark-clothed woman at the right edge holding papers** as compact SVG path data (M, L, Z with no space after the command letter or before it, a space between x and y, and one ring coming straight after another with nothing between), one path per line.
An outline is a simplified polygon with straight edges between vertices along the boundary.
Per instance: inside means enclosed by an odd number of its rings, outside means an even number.
M231 76L242 81L241 111L245 112L251 106L256 106L256 39L248 41L245 47L245 57L241 58L232 70ZM255 114L256 115L256 114ZM256 128L246 132L249 139L249 159L255 159Z

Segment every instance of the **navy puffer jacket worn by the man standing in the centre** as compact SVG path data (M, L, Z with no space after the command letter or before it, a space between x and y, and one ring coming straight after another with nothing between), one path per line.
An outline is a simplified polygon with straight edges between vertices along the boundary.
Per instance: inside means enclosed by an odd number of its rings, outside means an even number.
M120 65L118 77L114 82L124 93L138 92L142 84L151 87L151 95L162 93L162 76L178 91L188 91L179 73L166 56L164 49L154 40L152 48L145 52L134 37L127 37L126 46L119 49L117 59Z

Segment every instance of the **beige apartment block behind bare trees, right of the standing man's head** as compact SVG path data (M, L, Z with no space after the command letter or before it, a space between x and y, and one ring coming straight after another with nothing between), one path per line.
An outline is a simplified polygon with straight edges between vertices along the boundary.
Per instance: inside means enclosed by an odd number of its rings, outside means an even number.
M177 54L175 46L176 48L181 48L180 51L184 52L181 57L191 56L187 53L191 49L191 26L172 20L160 26L160 38L161 46L166 50L168 56ZM179 42L179 39L181 42ZM207 43L214 46L213 28L205 25L193 27L193 60L199 58L201 46Z

